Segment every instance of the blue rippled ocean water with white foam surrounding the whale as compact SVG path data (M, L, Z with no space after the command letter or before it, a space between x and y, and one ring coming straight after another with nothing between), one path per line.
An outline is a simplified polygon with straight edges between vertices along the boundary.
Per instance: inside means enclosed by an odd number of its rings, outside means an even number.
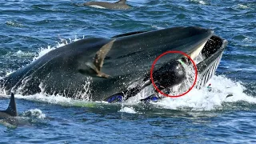
M1 143L256 142L256 1L130 0L133 9L125 11L72 2L0 1L0 77L62 46L60 38L202 26L229 41L213 90L148 105L138 102L146 90L122 104L17 94L18 126L1 120ZM0 97L0 110L9 98Z

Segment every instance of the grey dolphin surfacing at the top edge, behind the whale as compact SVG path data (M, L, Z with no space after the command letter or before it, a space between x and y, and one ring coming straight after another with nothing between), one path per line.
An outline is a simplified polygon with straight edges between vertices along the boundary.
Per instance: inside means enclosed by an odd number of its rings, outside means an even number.
M83 6L91 6L100 9L111 9L111 10L129 10L131 7L126 4L126 0L119 0L118 2L86 2ZM80 6L80 5L79 5Z

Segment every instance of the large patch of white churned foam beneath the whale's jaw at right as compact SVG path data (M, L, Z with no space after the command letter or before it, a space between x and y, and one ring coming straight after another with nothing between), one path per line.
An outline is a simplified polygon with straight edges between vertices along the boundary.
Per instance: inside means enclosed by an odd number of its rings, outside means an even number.
M161 106L173 110L214 110L222 107L222 102L246 101L256 103L256 98L246 95L246 90L242 82L233 82L224 76L214 76L210 80L212 91L206 88L202 90L191 90L190 93L180 98L164 98L160 102L153 103L155 106ZM226 98L228 94L232 97Z

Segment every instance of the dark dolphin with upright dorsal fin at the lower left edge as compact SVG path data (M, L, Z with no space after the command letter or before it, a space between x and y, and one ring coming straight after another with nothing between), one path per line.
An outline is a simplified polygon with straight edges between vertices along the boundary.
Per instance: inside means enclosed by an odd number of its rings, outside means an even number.
M17 114L16 102L15 102L14 94L11 93L10 103L9 103L8 108L6 110L0 110L0 119L16 117L17 115L18 114Z

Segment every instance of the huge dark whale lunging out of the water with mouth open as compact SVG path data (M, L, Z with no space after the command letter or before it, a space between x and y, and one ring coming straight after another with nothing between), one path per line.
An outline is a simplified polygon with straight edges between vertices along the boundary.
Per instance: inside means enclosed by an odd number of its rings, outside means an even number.
M166 51L179 50L193 60L202 55L197 64L196 87L200 89L216 71L226 44L226 39L214 35L213 30L197 26L129 32L112 38L84 38L51 50L0 79L0 88L5 94L59 94L102 101L134 82L149 81L154 59ZM162 57L154 71L167 73L170 62L177 59L184 59L184 55ZM161 78L154 74L155 78Z

